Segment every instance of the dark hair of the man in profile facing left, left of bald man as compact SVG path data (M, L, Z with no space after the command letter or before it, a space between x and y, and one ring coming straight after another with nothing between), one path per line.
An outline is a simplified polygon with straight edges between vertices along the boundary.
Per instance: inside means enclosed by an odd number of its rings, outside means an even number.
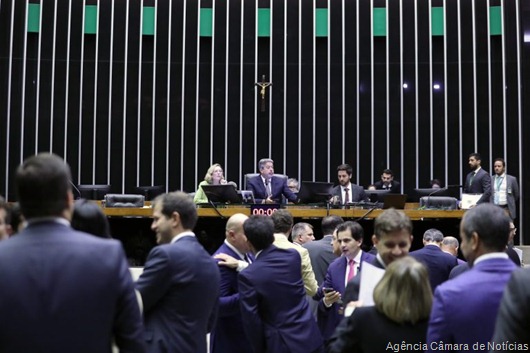
M167 218L171 217L173 212L177 212L184 229L193 229L197 224L197 208L193 203L190 195L182 191L170 192L157 196L153 201L153 207L161 205L161 212Z

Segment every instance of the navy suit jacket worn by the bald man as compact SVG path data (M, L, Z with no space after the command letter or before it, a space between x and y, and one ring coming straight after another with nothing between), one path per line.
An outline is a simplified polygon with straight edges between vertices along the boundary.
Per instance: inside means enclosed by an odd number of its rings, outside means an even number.
M220 253L239 259L239 255L225 243L214 255ZM219 266L219 272L221 274L219 313L217 323L210 335L210 352L247 353L250 343L241 321L237 271L226 266Z

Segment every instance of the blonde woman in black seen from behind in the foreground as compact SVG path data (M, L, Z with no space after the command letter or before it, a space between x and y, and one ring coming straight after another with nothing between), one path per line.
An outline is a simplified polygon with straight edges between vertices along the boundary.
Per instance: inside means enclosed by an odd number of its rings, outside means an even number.
M342 320L329 352L423 351L432 291L427 269L410 256L392 262L374 290L375 306L360 306ZM403 349L401 344L410 346Z

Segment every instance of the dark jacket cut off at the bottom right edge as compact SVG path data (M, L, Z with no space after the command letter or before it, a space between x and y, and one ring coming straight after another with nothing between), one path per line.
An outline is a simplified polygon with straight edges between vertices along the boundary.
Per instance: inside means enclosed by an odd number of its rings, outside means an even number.
M513 272L502 296L492 342L510 342L526 344L530 347L528 322L530 318L530 269ZM506 349L491 352L506 352Z

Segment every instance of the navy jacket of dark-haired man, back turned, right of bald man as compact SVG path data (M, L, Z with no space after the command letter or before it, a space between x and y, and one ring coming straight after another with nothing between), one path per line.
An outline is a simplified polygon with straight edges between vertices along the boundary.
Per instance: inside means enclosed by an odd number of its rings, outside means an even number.
M300 256L271 245L239 273L244 329L254 353L309 353L322 337L309 310Z

